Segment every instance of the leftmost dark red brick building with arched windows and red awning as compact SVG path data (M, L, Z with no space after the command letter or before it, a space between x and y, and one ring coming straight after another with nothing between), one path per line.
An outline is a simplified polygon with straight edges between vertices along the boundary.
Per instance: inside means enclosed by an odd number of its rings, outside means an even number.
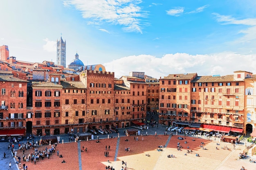
M0 70L0 127L9 130L8 135L25 133L27 117L27 80L14 77L12 71ZM6 135L6 134L2 134Z

